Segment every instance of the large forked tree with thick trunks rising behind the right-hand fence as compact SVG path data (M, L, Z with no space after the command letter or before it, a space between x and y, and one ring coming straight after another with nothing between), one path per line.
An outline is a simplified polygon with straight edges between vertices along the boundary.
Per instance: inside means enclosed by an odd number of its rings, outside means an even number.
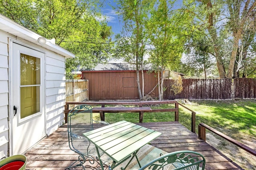
M196 23L206 27L207 31L205 30L205 32L208 32L209 37L211 37L220 78L232 78L238 56L238 47L240 50L242 49L242 37L246 33L245 30L249 26L249 21L254 16L256 1L217 0L212 3L212 0L198 0L198 2L200 3L196 14ZM232 49L228 59L228 68L225 69L222 57L223 43L228 41L232 42Z

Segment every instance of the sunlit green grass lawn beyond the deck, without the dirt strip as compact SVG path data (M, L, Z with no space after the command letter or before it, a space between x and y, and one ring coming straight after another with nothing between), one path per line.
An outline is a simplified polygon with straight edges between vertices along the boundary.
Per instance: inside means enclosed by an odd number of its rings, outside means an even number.
M198 124L205 123L218 131L237 138L246 135L256 139L256 100L194 100L184 106L196 112L196 133ZM174 104L161 105L161 108L173 108ZM152 107L152 108L157 108ZM99 119L99 115L96 115ZM105 113L109 123L121 120L136 123L138 113ZM143 122L174 121L174 112L144 113ZM191 112L179 106L179 122L191 129Z

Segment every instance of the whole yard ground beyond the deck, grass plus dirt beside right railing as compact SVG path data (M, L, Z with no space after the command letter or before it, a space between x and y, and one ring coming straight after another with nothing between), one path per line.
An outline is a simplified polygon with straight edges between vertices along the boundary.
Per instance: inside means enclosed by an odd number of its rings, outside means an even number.
M179 102L179 101L178 101ZM196 133L198 124L210 127L236 139L256 150L256 100L194 100L183 104L196 112ZM129 106L127 106L129 107ZM160 108L174 108L174 104ZM152 106L152 108L157 108ZM95 119L100 119L94 113ZM105 113L105 120L115 123L121 120L139 122L138 113ZM144 113L143 122L174 121L174 112ZM191 130L191 112L179 106L179 122ZM256 170L256 156L236 147L217 135L206 131L206 141L231 158L246 170Z

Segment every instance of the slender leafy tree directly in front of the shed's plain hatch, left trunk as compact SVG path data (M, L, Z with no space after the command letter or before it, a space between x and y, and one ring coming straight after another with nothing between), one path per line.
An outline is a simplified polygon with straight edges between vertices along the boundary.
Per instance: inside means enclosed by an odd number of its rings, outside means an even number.
M144 96L144 77L143 65L144 55L146 54L146 30L144 29L149 17L149 10L152 8L152 1L137 0L136 3L131 0L119 0L117 2L117 13L120 20L124 22L124 27L120 35L116 36L118 45L118 56L124 54L124 61L135 64L138 94L142 98ZM125 44L125 45L122 45ZM140 72L142 73L142 91L140 87Z

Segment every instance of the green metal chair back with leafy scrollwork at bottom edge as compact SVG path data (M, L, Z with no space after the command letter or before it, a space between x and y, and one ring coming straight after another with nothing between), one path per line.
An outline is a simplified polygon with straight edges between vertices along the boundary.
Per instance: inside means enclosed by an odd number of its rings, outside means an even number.
M190 150L181 150L164 154L139 170L204 170L205 158L202 154Z

